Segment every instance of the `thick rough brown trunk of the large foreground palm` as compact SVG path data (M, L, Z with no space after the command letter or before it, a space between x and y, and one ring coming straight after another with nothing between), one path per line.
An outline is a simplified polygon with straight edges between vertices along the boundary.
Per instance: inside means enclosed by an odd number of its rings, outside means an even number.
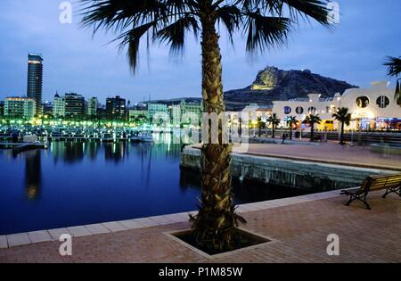
M222 85L221 54L215 21L205 16L202 23L202 98L204 112L225 112ZM208 124L203 124L208 126ZM192 217L192 233L201 247L213 250L230 249L236 215L231 188L231 145L222 143L222 127L218 126L218 144L201 148L201 206ZM210 126L209 126L209 136Z

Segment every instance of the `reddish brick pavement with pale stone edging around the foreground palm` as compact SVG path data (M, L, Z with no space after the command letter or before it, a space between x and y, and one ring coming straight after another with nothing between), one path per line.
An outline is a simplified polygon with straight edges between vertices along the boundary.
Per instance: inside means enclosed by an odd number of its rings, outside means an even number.
M0 262L401 262L401 198L370 194L368 211L359 202L344 206L347 198L337 194L241 205L248 220L244 228L278 241L224 257L207 259L166 236L189 226L186 215L178 214L32 232L11 240L0 236L0 248L11 246L0 249ZM40 243L66 231L74 235L71 257L61 257L58 241ZM340 236L340 256L327 255L329 234ZM27 239L39 243L12 246Z

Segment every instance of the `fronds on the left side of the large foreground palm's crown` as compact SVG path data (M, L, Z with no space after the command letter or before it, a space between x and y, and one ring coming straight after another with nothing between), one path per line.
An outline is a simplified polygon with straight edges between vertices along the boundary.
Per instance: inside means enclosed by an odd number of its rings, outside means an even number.
M128 46L129 65L134 72L140 41L145 34L148 48L150 37L162 41L169 37L171 49L179 50L184 45L180 26L181 29L191 26L195 33L198 30L193 18L188 17L195 11L197 2L194 0L81 0L81 3L84 27L93 26L94 33L100 28L121 33L113 41L120 40L120 50Z

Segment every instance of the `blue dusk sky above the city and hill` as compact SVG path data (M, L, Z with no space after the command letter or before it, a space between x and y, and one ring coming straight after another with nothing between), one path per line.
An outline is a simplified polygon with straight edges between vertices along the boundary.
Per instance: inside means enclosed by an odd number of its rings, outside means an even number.
M79 28L59 21L56 0L0 1L0 99L25 95L27 55L44 55L44 100L59 93L77 92L107 96L122 95L137 102L180 96L201 97L201 50L188 37L184 56L171 58L163 45L153 45L148 60L141 54L140 68L129 70L125 53L115 44L105 45L112 34ZM225 90L246 87L266 65L281 69L310 69L315 73L368 87L372 80L389 80L382 66L386 55L401 55L399 0L339 0L340 25L331 32L315 23L302 24L288 46L258 57L245 53L241 36L235 48L222 32L221 47ZM72 3L74 13L78 4ZM394 79L392 79L394 84Z

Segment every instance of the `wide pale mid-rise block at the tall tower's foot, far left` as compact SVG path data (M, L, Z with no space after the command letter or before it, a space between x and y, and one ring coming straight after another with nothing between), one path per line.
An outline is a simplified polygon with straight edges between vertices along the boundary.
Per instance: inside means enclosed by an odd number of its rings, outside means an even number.
M7 97L4 102L4 116L31 119L35 116L36 101L30 97Z

